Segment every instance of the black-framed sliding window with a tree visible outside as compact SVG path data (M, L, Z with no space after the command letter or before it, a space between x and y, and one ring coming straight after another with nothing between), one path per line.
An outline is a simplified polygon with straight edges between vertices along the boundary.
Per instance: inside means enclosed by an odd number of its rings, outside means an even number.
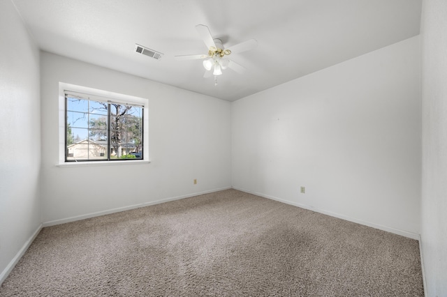
M64 90L65 162L142 160L145 108Z

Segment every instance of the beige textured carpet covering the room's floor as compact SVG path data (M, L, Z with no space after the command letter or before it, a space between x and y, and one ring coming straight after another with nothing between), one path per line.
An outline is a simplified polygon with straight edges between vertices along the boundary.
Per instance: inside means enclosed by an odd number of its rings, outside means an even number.
M42 229L0 296L423 296L418 241L224 190Z

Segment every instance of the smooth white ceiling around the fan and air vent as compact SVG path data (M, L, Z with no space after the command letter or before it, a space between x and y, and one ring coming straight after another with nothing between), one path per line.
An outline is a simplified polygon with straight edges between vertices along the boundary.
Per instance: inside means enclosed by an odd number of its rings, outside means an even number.
M13 0L38 46L156 82L237 100L419 34L422 0ZM258 47L230 55L247 68L203 78L206 54L196 24L225 47L254 38ZM135 43L162 52L155 60ZM11 45L13 46L13 45Z

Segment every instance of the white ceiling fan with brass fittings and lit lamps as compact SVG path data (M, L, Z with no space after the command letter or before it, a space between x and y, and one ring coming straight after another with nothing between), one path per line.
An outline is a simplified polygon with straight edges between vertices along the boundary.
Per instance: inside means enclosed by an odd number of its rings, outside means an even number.
M207 46L208 53L175 56L175 59L177 59L178 61L205 59L203 61L203 67L206 71L203 77L206 78L214 75L214 81L216 82L216 84L217 76L222 75L222 70L225 70L226 68L230 68L236 73L244 73L244 70L246 69L244 68L244 66L241 66L235 61L228 59L226 56L235 54L237 52L246 52L248 50L253 50L258 45L258 42L255 39L250 39L244 41L243 43L238 43L237 45L233 45L226 49L223 47L222 40L212 37L210 29L208 29L207 26L198 24L196 26L196 30L200 38L203 39L203 42Z

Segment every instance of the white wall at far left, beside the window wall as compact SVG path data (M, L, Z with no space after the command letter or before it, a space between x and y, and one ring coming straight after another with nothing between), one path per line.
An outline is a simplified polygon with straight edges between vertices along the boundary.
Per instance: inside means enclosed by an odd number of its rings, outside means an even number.
M0 283L41 226L39 52L0 1Z

